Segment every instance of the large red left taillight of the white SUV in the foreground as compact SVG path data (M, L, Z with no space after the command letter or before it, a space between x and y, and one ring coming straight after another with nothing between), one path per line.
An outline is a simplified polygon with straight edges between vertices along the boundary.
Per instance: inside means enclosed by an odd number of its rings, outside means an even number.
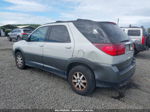
M109 54L111 56L118 56L125 54L125 45L124 44L97 44L94 45L101 51Z

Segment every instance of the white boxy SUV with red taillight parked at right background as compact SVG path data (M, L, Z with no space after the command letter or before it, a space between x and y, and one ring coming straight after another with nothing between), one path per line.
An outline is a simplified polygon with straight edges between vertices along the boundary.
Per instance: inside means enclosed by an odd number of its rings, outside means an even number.
M130 39L134 42L135 54L141 51L148 50L147 40L148 35L141 27L121 27L127 33Z

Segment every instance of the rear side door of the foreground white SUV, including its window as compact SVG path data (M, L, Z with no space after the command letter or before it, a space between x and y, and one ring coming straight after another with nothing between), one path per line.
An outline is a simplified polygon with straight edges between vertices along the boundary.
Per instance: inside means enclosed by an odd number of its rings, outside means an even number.
M64 74L66 64L73 54L73 39L67 25L52 25L44 43L44 68Z

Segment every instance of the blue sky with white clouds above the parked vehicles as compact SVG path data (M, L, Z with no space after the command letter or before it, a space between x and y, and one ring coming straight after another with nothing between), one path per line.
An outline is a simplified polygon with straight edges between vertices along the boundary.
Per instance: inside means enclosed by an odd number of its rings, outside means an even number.
M149 0L1 0L0 25L85 18L150 25Z

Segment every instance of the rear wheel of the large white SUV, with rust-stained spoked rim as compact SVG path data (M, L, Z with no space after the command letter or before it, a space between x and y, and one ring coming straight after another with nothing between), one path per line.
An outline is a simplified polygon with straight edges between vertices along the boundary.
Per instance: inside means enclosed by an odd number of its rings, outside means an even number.
M91 94L96 87L93 72L82 65L75 66L70 70L68 81L72 90L83 96Z

